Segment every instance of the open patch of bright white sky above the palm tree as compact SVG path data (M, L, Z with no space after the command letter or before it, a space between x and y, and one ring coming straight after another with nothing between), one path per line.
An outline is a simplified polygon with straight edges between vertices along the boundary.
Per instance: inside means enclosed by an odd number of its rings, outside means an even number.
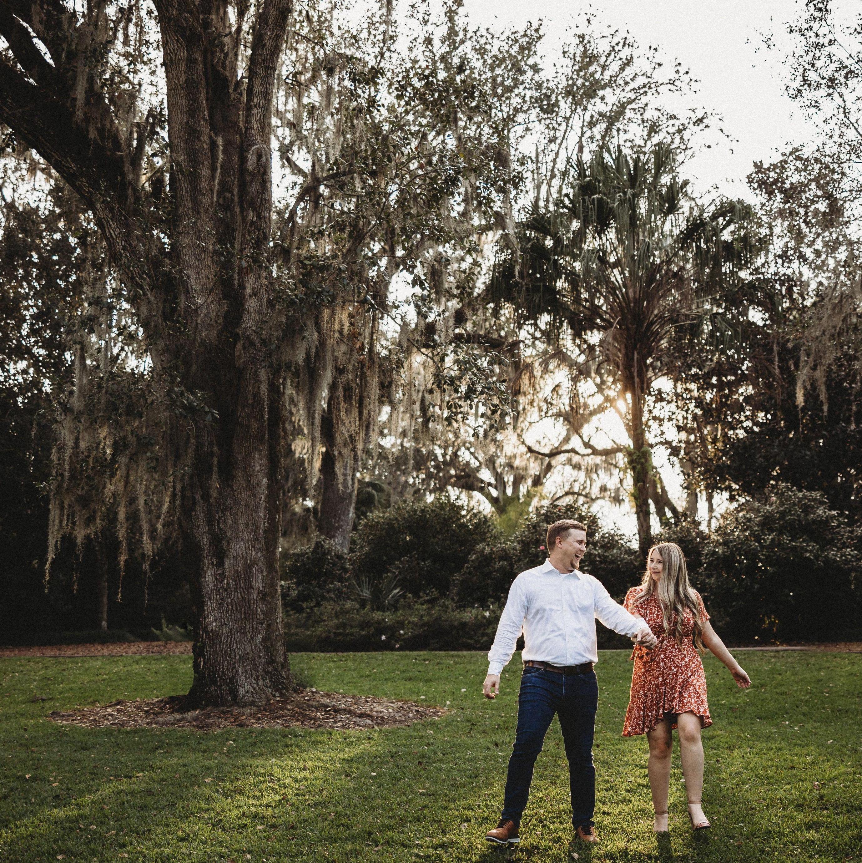
M567 24L591 10L602 24L628 29L641 46L662 49L700 81L692 98L724 118L732 142L704 151L689 165L696 188L714 184L733 196L745 194L752 162L769 161L787 142L805 142L813 129L795 114L784 95L785 22L795 20L795 0L465 0L475 23L523 26L542 19L549 54L563 41ZM777 50L764 47L762 35L778 38Z

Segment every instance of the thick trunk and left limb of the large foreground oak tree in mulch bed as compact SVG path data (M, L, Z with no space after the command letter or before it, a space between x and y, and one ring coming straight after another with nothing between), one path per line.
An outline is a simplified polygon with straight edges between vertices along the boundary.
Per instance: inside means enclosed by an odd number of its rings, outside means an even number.
M0 120L85 201L154 375L173 380L187 407L173 425L197 573L191 695L215 704L265 702L292 685L277 570L284 366L269 252L275 73L290 12L290 0L156 0L160 159L158 103L141 116L143 78L123 79L153 59L150 9L0 3ZM115 62L123 51L125 66Z

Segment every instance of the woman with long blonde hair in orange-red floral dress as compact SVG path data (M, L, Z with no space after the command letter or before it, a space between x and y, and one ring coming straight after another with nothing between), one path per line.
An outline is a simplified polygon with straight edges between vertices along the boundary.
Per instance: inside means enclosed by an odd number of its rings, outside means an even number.
M712 651L727 665L740 688L746 689L752 682L709 625L701 595L689 585L683 551L675 543L660 543L650 549L644 580L626 594L625 606L643 617L658 637L654 650L636 646L632 652L632 694L623 727L624 736L646 734L650 744L650 790L656 816L653 828L657 833L668 828L672 728L679 736L691 826L695 830L709 827L701 807L701 728L713 721L698 649Z

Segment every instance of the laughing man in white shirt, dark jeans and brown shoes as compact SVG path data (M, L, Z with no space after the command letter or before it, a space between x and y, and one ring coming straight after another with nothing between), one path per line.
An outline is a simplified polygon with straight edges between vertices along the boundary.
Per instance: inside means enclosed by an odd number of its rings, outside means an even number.
M522 572L512 583L494 646L488 652L486 698L500 691L500 672L512 658L523 630L524 673L518 696L518 729L506 780L500 823L486 839L498 845L520 841L521 813L527 803L532 769L556 713L563 731L572 799L572 826L582 841L598 842L593 824L595 767L593 729L599 686L595 618L647 648L656 646L643 618L613 602L604 585L578 570L587 550L587 529L579 521L556 521L548 528L548 559Z

